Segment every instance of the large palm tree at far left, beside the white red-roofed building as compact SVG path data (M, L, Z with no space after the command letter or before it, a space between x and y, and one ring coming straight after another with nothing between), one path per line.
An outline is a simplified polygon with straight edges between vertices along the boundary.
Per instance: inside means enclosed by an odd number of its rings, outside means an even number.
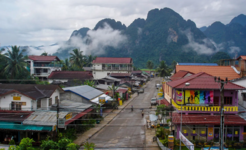
M7 53L4 54L4 69L3 73L10 78L16 78L19 75L28 73L26 70L26 62L23 52L26 50L20 50L20 47L12 46L11 50L8 49Z

